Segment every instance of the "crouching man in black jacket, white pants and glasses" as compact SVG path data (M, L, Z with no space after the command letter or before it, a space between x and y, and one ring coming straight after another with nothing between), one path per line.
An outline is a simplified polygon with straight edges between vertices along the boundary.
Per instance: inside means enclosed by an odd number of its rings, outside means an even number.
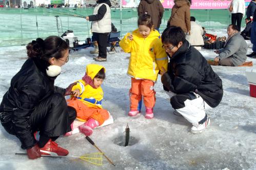
M201 133L210 124L205 110L221 102L222 80L185 39L180 27L165 29L162 42L170 61L167 71L161 69L161 81L171 96L174 114L181 114L192 123L191 133Z

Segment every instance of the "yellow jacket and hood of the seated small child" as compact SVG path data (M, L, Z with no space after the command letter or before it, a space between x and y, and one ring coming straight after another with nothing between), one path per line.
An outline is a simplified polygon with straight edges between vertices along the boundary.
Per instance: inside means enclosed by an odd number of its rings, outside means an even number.
M91 79L93 79L102 68L104 67L100 65L90 64L86 67L86 73L88 76L91 77ZM80 96L76 98L83 101L90 108L102 109L102 100L104 95L102 88L99 87L94 89L89 84L86 84L84 80L77 80L76 82L76 85L72 88L72 90L80 90ZM74 96L71 95L71 97Z

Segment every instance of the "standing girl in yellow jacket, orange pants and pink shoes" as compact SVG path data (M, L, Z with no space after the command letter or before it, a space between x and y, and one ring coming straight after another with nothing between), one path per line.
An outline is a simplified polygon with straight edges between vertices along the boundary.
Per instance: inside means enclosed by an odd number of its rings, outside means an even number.
M129 116L140 113L143 96L145 118L153 118L155 104L154 83L160 68L167 68L168 57L162 48L159 32L153 29L152 18L143 14L138 20L138 29L128 33L120 41L126 53L131 53L127 74L131 77Z

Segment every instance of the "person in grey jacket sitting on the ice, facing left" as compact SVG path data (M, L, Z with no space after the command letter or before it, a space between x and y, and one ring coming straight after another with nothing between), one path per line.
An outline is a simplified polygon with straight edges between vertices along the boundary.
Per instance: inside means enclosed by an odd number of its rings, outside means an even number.
M214 51L219 54L214 58L221 66L241 66L246 60L247 44L238 31L237 25L227 28L228 38L223 49Z

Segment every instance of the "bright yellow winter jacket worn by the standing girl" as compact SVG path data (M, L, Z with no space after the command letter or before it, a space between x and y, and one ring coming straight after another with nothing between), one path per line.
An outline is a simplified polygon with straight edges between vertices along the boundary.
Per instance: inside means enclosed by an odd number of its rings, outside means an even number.
M144 38L139 29L132 32L133 40L129 40L126 34L119 45L124 52L131 53L127 74L136 79L157 80L159 70L164 67L167 70L168 57L159 32L152 30L148 37Z

